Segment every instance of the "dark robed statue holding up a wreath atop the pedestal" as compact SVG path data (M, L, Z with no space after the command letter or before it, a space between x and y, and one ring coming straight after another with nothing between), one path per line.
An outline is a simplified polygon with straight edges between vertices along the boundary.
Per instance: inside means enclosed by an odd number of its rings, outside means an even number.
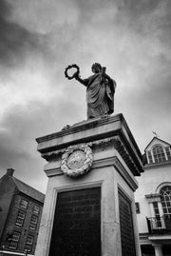
M93 75L82 79L77 65L68 66L68 69L76 68L72 77L86 87L87 119L112 114L114 111L114 93L116 82L105 73L105 68L99 63L92 65Z

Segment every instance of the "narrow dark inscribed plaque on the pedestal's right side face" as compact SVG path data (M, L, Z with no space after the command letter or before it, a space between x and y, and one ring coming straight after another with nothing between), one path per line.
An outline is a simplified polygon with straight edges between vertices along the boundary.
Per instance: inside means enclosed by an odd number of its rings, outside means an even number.
M119 190L122 256L136 256L131 203Z

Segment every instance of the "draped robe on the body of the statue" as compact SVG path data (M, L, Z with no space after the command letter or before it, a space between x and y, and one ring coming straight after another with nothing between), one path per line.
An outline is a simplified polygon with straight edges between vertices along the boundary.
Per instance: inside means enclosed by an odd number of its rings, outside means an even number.
M84 79L86 87L87 118L111 114L114 111L116 82L96 73Z

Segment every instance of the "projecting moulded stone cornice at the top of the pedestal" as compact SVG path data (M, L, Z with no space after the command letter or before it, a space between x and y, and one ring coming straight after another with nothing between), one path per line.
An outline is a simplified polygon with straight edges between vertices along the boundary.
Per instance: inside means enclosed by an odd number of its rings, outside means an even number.
M48 162L61 155L68 146L86 143L112 144L134 176L143 171L142 154L128 128L123 114L87 120L59 132L36 139L38 151Z

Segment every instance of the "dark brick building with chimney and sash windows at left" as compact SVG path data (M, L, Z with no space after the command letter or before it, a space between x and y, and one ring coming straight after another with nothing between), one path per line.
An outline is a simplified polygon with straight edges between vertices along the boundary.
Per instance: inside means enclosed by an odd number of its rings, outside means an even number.
M45 195L15 178L13 171L0 179L1 253L34 254Z

